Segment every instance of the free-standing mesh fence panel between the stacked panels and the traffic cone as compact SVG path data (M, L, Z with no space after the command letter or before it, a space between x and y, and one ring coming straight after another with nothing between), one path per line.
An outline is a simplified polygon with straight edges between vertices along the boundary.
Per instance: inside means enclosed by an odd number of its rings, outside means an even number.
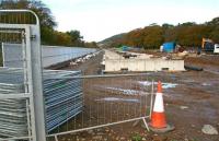
M148 128L146 120L151 114L153 91L152 78L148 74L82 75L65 79L82 82L82 108L79 106L82 111L71 117L70 109L72 106L78 107L79 99L66 103L66 108L57 106L57 109L68 111L62 116L69 120L48 132L48 139L55 138L58 141L65 134L135 120L142 120ZM71 137L71 140L74 138Z

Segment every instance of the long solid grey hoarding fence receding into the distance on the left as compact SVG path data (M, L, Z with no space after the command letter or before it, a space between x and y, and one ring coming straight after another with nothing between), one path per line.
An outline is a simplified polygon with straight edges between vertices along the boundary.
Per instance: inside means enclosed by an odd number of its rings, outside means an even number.
M96 49L94 48L42 46L43 67L48 68L95 51ZM3 66L11 68L20 67L23 63L21 54L21 44L2 44Z

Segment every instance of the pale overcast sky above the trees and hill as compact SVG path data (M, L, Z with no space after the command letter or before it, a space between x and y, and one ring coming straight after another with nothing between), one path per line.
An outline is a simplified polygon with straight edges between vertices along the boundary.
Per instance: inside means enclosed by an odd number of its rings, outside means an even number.
M151 23L204 23L219 16L219 0L42 0L61 32L78 30L87 42Z

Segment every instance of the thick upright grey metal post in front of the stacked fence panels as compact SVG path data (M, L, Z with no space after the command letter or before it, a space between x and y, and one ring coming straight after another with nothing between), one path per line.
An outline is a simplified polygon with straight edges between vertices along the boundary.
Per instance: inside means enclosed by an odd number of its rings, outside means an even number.
M36 141L46 141L39 25L31 26L31 39Z

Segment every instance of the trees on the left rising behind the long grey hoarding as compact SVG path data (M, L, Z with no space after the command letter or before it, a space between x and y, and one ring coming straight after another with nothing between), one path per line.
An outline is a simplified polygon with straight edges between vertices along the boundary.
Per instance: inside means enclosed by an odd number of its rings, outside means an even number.
M41 21L41 38L43 45L54 45L54 46L78 46L78 47L97 47L95 42L84 42L83 36L77 30L71 30L69 32L56 31L57 22L51 14L50 9L44 4L41 0L1 0L0 9L28 9L34 11ZM19 17L15 17L19 16ZM26 22L34 22L33 17L27 14L23 15L1 15L1 20L8 19L8 21L21 22L21 19ZM31 21L32 20L32 21Z

